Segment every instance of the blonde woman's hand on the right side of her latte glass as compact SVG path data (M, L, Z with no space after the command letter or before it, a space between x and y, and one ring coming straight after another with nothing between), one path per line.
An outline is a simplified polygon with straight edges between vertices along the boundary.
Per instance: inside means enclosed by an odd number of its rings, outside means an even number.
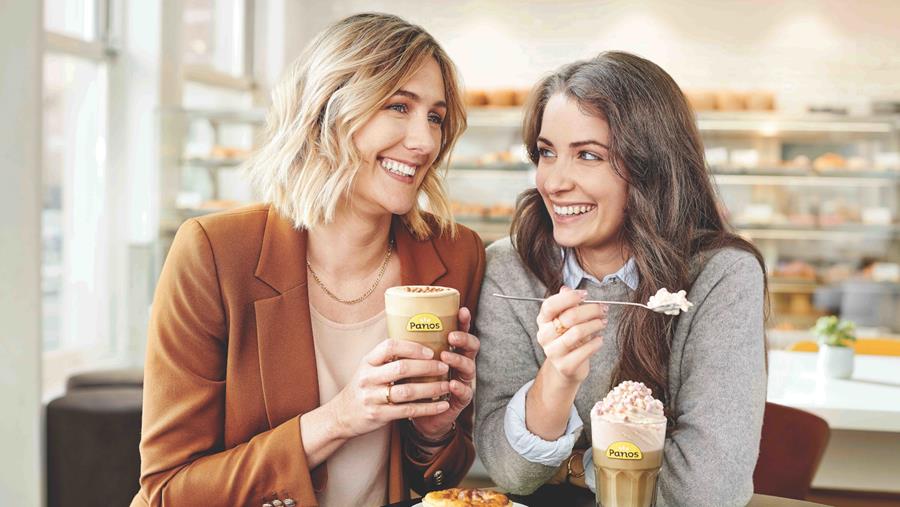
M459 331L450 333L453 352L441 352L439 358L450 367L450 408L438 415L417 417L412 420L413 428L429 440L437 440L450 433L459 414L472 402L475 380L475 356L481 342L469 334L472 314L469 309L459 309Z

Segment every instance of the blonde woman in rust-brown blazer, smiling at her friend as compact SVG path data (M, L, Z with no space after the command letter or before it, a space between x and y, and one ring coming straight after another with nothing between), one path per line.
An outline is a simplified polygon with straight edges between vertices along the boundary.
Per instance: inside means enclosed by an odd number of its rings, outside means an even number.
M464 128L453 63L422 28L361 14L316 37L248 165L266 204L186 222L166 260L133 506L382 505L462 478L471 315L434 357L385 339L383 294L436 284L477 304L483 246L438 170Z

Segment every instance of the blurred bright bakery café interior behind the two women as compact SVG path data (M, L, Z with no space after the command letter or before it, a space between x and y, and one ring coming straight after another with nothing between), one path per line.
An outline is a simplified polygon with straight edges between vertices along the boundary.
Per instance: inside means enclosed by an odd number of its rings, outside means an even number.
M48 484L46 404L73 375L140 368L178 225L253 200L238 166L273 83L314 34L357 12L421 24L457 63L470 126L447 184L458 219L485 242L508 233L515 197L534 181L520 132L529 87L575 59L630 51L688 95L722 208L765 255L769 348L814 340L809 329L824 315L854 321L860 337L900 336L900 2L0 0L0 8L4 505L59 500L61 472L51 470ZM791 382L790 371L774 373ZM809 382L813 390L799 394L770 385L770 398L815 408L807 399L815 389L826 401L844 389ZM832 417L832 454L814 492L836 504L900 505L900 407L870 407L900 400L900 378L861 392L818 409ZM829 410L848 404L871 424L840 426ZM883 457L873 458L876 470L853 475L846 464L871 453Z

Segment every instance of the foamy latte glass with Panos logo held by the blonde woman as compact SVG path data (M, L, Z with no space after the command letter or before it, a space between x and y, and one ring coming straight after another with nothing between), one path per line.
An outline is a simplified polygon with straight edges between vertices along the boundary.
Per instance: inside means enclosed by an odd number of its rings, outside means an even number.
M448 336L456 331L459 314L459 291L435 285L401 285L384 293L388 337L424 345L440 359L450 350ZM447 375L415 377L405 382L439 382Z

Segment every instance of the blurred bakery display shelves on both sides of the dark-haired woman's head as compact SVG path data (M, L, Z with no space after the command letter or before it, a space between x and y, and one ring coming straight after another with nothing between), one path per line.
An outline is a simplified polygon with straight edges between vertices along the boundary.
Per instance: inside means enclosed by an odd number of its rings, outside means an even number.
M509 234L515 197L534 185L521 114L471 108L449 170L459 221L486 243ZM700 111L697 122L723 212L766 259L769 325L805 330L849 312L861 327L900 331L900 303L884 303L900 301L900 119L742 110ZM872 308L856 304L860 283L891 296L878 315L854 310Z

